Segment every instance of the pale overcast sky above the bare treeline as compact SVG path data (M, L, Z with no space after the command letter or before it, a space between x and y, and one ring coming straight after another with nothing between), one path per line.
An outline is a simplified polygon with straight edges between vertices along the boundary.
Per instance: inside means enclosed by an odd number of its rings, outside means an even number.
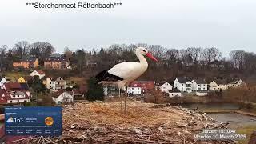
M26 2L122 2L109 10L34 9ZM113 43L216 46L256 52L255 0L1 0L0 45L50 42L96 49Z

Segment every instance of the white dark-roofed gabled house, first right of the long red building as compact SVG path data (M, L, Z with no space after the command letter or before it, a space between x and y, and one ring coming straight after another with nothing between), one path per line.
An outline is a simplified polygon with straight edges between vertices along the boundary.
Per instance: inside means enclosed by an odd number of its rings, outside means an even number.
M192 92L192 82L189 78L176 78L174 80L174 88L180 90L181 92L191 93Z

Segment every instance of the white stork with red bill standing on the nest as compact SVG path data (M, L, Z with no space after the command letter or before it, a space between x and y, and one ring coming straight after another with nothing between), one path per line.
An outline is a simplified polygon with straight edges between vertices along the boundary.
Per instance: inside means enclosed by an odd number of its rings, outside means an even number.
M131 82L134 82L139 76L141 76L147 69L148 63L146 62L146 57L151 58L155 62L158 62L152 54L148 52L144 47L138 47L135 50L135 54L139 59L139 62L122 62L114 65L109 70L104 70L101 73L97 74L95 78L98 79L98 83L110 83L118 86L119 90L125 86L125 108L126 113L126 98L127 98L127 86ZM121 110L122 110L122 97L121 98Z

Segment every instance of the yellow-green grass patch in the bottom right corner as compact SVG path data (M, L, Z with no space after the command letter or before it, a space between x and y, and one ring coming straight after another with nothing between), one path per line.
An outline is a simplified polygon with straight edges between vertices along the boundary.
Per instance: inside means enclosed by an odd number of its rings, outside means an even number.
M250 135L253 133L254 130L256 130L256 126L238 127L236 134L246 134L246 139L240 140L239 142L242 142L242 144L247 144L250 140Z

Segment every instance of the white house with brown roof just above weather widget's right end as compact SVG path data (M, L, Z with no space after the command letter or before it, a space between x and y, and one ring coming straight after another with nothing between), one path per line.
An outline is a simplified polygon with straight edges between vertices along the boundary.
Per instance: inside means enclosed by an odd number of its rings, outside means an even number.
M53 101L56 104L65 104L74 101L74 97L72 96L72 92L65 90L58 90L54 96L52 97Z

